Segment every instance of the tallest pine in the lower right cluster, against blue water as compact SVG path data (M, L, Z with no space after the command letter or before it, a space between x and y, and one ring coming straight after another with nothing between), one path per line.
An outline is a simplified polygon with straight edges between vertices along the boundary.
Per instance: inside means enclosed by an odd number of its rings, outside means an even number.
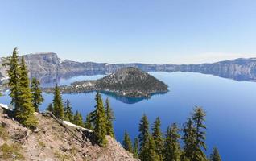
M205 144L205 135L204 130L206 126L204 125L205 121L205 112L204 109L196 107L194 109L194 114L192 115L192 120L196 128L196 140L195 140L195 153L193 154L193 161L207 160L206 155L203 150L206 150Z

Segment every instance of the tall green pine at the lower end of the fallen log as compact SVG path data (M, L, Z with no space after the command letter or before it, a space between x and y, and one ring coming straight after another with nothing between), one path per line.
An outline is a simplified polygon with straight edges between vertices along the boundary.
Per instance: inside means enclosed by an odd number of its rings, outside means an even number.
M91 113L91 122L93 122L94 134L97 139L97 143L105 147L107 140L106 135L106 117L103 101L101 99L101 94L97 93L95 97L96 105L95 110Z

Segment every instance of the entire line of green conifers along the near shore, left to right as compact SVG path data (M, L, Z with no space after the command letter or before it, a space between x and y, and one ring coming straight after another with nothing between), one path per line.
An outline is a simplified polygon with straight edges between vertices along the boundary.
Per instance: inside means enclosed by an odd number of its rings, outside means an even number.
M23 126L35 129L38 125L35 112L39 112L39 105L43 102L40 83L35 78L30 82L24 57L19 60L17 47L14 48L12 55L7 57L4 65L9 68L8 85L10 104L14 106L14 118ZM53 101L48 105L47 110L57 118L93 130L98 145L105 147L107 145L105 136L114 138L114 113L108 98L104 105L101 94L97 93L95 101L95 109L87 114L84 122L81 113L78 111L72 113L72 105L68 99L63 103L60 88L56 85ZM139 123L138 138L134 138L132 145L130 136L125 131L123 147L142 161L220 161L221 156L216 147L213 148L209 158L205 155L205 115L203 109L196 107L181 129L173 123L163 134L160 118L156 118L150 128L147 116L144 114Z

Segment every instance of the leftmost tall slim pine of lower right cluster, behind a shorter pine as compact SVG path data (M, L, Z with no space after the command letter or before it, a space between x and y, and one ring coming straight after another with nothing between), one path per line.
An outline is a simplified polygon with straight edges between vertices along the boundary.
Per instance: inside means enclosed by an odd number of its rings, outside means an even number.
M138 141L139 141L139 145L140 145L140 149L142 149L142 147L144 147L145 142L147 142L147 138L150 135L149 133L149 125L148 125L148 120L147 120L147 116L146 114L143 114L141 121L139 123L139 127L138 127Z

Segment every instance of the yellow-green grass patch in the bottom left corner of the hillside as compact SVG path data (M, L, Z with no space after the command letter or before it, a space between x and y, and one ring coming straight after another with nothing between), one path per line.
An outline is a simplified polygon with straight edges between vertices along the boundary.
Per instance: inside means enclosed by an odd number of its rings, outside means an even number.
M24 156L19 152L20 148L18 144L12 144L10 146L6 143L2 144L0 147L0 160L25 160Z

